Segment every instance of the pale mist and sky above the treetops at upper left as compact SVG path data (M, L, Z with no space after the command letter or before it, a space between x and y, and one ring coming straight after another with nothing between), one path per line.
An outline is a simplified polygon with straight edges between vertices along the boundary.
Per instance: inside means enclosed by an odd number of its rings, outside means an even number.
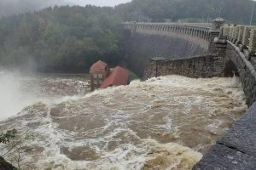
M96 6L115 6L120 3L128 3L131 0L1 0L0 16L9 14L20 14L29 11L35 11L41 8L52 7L55 5L80 5L88 4Z

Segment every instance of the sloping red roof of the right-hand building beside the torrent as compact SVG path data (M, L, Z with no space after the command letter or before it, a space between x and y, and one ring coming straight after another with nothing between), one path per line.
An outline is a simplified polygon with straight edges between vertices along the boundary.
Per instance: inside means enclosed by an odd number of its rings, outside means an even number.
M110 86L127 85L129 81L128 71L120 66L117 66L110 73L104 82L102 82L101 88L108 88Z

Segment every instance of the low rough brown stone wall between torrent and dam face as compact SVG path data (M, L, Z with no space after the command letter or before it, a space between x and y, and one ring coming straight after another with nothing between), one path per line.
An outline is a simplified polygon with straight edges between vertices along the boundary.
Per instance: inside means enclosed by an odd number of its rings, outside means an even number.
M177 74L185 77L222 77L224 74L222 57L212 54L194 56L187 59L151 59L144 72L144 79Z

